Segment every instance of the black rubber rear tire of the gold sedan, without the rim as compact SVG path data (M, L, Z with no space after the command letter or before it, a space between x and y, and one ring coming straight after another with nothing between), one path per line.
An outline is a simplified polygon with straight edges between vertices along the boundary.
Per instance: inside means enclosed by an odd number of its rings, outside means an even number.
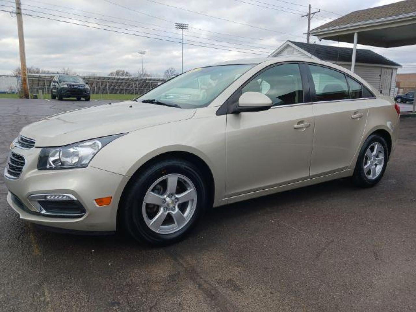
M366 160L366 152L371 145L374 143L379 143L384 149L384 163L382 165L381 171L378 173L376 178L370 179L366 173L364 172L364 161ZM357 158L357 163L355 165L354 174L352 176L352 180L356 186L362 188L369 188L375 186L384 175L386 171L387 162L389 160L389 148L387 146L386 140L379 136L378 134L372 134L369 136L365 141ZM368 171L367 171L368 172Z

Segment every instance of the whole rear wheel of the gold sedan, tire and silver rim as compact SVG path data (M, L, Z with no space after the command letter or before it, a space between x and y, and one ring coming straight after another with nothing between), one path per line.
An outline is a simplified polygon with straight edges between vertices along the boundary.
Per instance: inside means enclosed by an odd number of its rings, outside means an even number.
M353 181L360 187L376 185L386 171L389 148L386 140L372 134L364 142L355 166Z

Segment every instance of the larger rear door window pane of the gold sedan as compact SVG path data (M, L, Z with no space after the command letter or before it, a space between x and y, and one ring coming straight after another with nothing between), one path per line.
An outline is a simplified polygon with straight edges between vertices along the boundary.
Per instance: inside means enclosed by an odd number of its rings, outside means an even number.
M345 75L326 67L309 65L317 102L349 99Z

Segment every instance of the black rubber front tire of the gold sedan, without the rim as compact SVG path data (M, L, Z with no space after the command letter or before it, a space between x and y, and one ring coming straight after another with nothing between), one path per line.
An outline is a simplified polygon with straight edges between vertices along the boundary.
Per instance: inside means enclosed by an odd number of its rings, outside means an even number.
M196 207L187 223L174 233L161 234L151 230L146 224L143 216L144 196L148 189L159 178L169 174L180 174L188 178L196 189ZM119 223L127 233L139 241L144 241L151 245L166 245L174 243L184 238L206 211L208 200L208 189L203 174L193 163L183 159L166 159L150 165L128 186L123 193L121 209L121 223ZM159 210L156 206L156 211ZM160 211L160 210L159 210Z

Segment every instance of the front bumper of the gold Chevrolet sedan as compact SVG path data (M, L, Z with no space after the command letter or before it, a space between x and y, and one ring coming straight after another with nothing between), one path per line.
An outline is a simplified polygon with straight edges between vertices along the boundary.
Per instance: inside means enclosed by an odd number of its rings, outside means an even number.
M25 157L26 163L19 178L5 176L9 193L7 202L20 218L48 227L79 231L114 231L119 198L129 177L99 168L87 167L64 170L37 170L40 149L14 153ZM37 211L32 198L46 194L67 194L82 205L84 213L56 216ZM98 206L94 199L111 196L111 203ZM45 211L44 211L45 212Z

